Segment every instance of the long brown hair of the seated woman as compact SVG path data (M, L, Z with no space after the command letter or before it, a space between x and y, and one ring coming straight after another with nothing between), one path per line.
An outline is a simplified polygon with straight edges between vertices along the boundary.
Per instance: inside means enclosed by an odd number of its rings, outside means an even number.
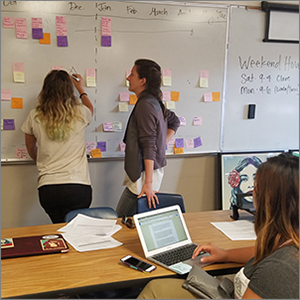
M299 158L287 153L262 163L253 197L257 235L253 264L290 239L299 249Z

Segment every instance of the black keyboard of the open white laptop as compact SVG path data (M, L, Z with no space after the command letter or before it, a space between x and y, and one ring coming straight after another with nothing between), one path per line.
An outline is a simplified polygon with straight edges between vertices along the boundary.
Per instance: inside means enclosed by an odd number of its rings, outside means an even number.
M163 263L166 266L171 266L178 262L192 258L192 254L196 247L197 245L195 244L189 244L169 250L164 253L156 254L152 256L152 258Z

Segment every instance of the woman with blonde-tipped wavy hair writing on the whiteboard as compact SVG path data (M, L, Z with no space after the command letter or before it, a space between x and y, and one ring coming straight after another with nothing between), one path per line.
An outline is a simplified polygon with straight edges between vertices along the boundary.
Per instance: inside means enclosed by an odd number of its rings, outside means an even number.
M39 171L38 191L42 207L53 223L64 222L74 209L88 208L92 188L85 149L85 128L93 105L82 77L52 70L44 79L38 106L22 125L28 154ZM81 102L74 95L76 87Z

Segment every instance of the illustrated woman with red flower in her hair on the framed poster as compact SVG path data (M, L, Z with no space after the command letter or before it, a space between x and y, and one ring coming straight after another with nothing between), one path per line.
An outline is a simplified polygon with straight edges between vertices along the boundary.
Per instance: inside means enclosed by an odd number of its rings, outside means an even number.
M246 157L240 160L233 171L228 176L228 184L232 187L231 190L231 207L237 204L237 194L246 194L253 192L254 178L261 160L256 157ZM243 197L243 207L252 207L252 197ZM250 205L249 205L250 204Z

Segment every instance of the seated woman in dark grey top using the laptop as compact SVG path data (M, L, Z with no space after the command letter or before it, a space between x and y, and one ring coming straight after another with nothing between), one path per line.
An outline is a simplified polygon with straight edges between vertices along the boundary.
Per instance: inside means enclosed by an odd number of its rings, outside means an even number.
M234 278L235 297L243 299L299 299L299 158L280 154L256 172L253 203L256 209L255 247L224 250L199 245L211 254L203 262L246 264ZM156 279L139 299L195 299L182 287L183 279Z

